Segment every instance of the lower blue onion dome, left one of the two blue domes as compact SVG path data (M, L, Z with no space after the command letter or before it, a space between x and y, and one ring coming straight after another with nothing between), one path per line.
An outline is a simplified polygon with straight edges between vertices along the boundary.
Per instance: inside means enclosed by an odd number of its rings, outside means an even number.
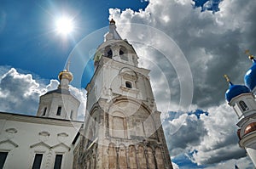
M230 88L226 92L226 99L230 102L231 99L235 98L236 96L242 93L250 93L250 90L243 85L233 85L230 82Z

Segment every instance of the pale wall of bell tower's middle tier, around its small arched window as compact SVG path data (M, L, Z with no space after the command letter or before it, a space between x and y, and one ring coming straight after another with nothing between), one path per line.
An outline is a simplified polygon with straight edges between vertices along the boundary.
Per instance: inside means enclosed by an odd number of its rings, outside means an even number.
M126 79L120 75L120 70L125 67L136 72L137 80ZM88 91L86 109L90 110L98 99L111 100L114 95L123 95L140 100L154 100L148 73L149 70L102 57L89 86L86 87ZM131 82L133 87L126 88L125 81Z

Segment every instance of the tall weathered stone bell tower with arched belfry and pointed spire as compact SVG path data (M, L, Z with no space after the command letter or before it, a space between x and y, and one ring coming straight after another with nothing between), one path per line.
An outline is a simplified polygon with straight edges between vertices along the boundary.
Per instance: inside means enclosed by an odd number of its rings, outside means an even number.
M137 59L110 20L86 87L82 168L172 168L149 70Z

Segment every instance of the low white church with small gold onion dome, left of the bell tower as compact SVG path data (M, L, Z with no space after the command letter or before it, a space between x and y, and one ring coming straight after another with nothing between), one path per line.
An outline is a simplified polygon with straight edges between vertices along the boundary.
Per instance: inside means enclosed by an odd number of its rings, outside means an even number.
M40 97L38 114L0 112L0 168L72 168L73 147L83 121L79 100L68 90L73 80L61 71L60 85Z

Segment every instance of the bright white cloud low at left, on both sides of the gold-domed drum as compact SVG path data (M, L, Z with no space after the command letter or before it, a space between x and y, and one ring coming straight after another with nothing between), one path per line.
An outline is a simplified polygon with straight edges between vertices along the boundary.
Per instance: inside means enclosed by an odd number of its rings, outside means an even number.
M31 74L19 73L15 68L1 66L0 70L0 111L3 112L36 115L39 96L55 90L59 85L55 79L50 80L48 85L44 84L43 81L34 80ZM81 103L78 119L83 121L85 90L70 86L70 91Z

